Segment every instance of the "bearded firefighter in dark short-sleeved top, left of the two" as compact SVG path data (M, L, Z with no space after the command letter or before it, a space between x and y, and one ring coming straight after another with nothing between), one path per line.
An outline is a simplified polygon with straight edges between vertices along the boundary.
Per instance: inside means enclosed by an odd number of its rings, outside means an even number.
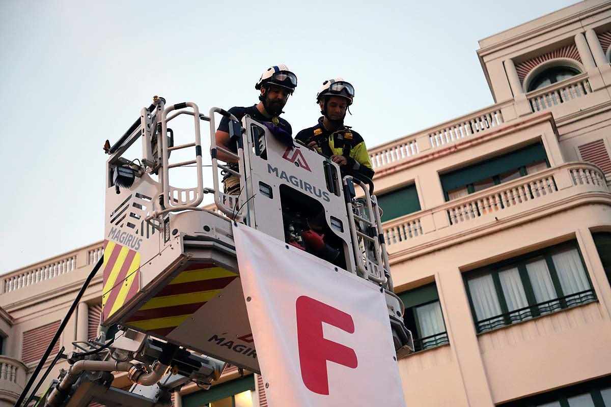
M288 101L288 96L293 95L297 87L297 76L288 70L287 65L280 64L268 68L261 75L255 89L260 92L259 103L249 107L232 107L232 113L238 120L242 120L244 115L250 115L254 120L276 129L276 132L286 132L288 138L292 140L293 129L288 121L280 117L282 108ZM275 127L274 127L275 126ZM216 133L214 134L216 144L222 148L238 152L238 143L232 140L229 135L229 118L223 117ZM217 158L225 161L232 169L238 170L238 162L235 158L217 151ZM236 175L225 175L223 179L225 193L238 195L240 193L240 177Z

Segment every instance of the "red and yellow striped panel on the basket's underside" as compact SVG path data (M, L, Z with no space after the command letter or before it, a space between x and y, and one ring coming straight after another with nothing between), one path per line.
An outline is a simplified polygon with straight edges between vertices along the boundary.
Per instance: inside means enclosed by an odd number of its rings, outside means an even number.
M238 275L214 264L189 264L126 323L166 336L203 304L215 297Z

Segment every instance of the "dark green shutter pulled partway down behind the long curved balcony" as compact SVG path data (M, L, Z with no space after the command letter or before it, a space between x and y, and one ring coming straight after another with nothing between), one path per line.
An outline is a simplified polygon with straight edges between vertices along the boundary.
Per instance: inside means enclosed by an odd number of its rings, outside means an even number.
M444 191L447 192L545 159L547 159L545 148L541 143L536 143L500 157L442 174L439 179Z

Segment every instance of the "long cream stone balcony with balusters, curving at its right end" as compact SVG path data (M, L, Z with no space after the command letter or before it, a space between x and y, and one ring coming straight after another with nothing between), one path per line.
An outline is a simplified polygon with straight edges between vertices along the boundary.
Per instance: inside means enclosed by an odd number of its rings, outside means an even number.
M584 162L567 163L393 219L382 225L384 238L389 253L397 253L588 192L609 194L602 171Z

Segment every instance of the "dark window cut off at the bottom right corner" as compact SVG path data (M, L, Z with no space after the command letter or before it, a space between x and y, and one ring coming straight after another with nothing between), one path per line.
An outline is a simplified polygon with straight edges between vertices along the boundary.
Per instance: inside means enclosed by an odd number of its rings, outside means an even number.
M522 398L499 407L611 407L611 376Z

